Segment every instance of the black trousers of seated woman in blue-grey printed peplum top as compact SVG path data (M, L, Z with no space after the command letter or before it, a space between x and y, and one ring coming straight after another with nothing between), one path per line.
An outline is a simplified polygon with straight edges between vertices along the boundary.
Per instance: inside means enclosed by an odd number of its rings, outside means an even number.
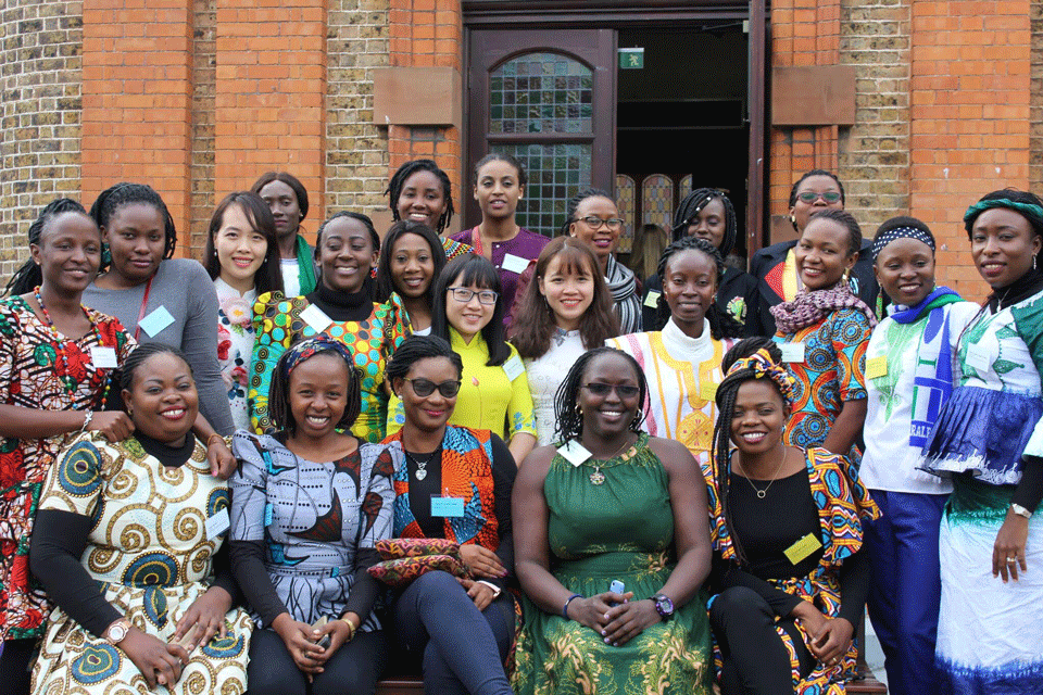
M250 637L247 692L249 695L373 695L384 672L385 647L382 632L356 632L309 683L278 633L254 630Z

